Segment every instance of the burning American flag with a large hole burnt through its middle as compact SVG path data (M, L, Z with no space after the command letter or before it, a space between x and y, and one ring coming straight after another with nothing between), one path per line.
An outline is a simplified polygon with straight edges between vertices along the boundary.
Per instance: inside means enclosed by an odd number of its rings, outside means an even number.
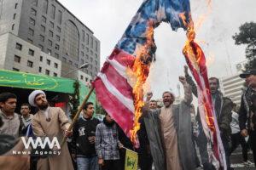
M186 23L193 23L189 0L144 0L93 82L93 86L96 88L96 97L102 107L136 145L137 131L140 128L138 119L144 105L143 84L148 77L149 67L156 50L154 28L159 26L162 21L170 23L174 31L180 27L187 30L189 25ZM186 49L189 49L189 45L188 42L183 53L199 85L199 93L203 93L209 88L206 81L207 70L205 69L206 73L203 72L203 74L200 70L200 68L205 68L205 62L203 62L205 58L203 54L200 55L201 59L196 58L197 55L192 56L193 50L192 54L188 53ZM195 47L199 48L199 46ZM213 161L219 161L222 157L219 156L220 149L216 136L218 125L210 120L214 113L210 95L205 94L202 97L203 101L206 101L203 104L206 110L201 114L207 117L207 120L203 121L207 122L207 128L212 132L212 144L215 144L212 147L212 152L216 157Z

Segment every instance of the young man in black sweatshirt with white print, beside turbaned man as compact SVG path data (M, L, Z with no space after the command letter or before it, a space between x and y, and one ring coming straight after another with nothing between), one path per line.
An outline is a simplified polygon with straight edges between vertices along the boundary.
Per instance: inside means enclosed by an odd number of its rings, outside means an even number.
M94 105L84 105L83 115L73 127L73 157L77 158L78 170L97 170L98 159L95 150L96 126L100 121L93 116Z

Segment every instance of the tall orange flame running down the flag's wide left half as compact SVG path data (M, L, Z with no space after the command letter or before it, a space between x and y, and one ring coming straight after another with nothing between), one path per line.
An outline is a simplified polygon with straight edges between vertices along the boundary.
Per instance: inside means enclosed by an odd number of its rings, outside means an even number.
M151 64L151 50L154 48L154 27L152 23L148 22L148 28L146 31L147 42L143 45L143 47L139 48L137 51L137 58L132 65L132 68L127 70L127 75L131 79L131 86L133 88L133 98L134 98L134 123L133 128L130 131L131 134L131 142L138 146L137 143L137 131L140 129L139 118L142 115L142 108L144 105L143 102L143 85L145 84L149 67Z

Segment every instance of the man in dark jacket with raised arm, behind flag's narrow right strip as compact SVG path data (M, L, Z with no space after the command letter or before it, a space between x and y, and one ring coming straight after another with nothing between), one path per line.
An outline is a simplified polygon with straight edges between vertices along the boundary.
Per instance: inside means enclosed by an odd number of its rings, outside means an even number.
M184 66L185 71L185 77L189 85L192 87L192 92L195 96L197 96L197 88L195 85L195 82L193 82L192 77L189 76L188 67ZM226 164L227 169L232 169L230 167L230 122L232 121L232 108L233 108L233 102L229 98L225 98L220 91L218 91L219 88L219 81L216 77L209 78L209 85L210 90L212 94L212 103L214 106L214 109L216 111L216 117L218 122L218 127L220 131L220 137L222 139L222 143L224 146L224 152L226 157ZM200 114L197 114L197 121L199 122L199 137L198 141L200 143L200 154L201 154L201 161L203 163L204 169L212 169L212 166L210 165L210 162L207 159L207 138L205 133L203 132L202 126L201 126L201 118L199 116Z

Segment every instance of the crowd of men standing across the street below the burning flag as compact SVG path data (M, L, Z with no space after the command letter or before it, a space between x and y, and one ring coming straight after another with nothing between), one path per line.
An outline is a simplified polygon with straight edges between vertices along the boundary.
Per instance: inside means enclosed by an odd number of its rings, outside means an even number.
M192 104L193 95L197 97L197 88L188 67L184 66L185 77L179 77L183 84L184 98L174 105L175 96L166 91L162 94L163 105L152 99L148 93L139 120L141 128L137 133L139 148L134 148L130 139L106 115L102 122L94 117L95 105L87 102L73 129L67 115L59 107L50 107L46 94L34 90L28 96L29 104L20 106L20 114L15 113L17 97L8 92L0 94L0 167L1 169L79 169L79 170L121 170L125 169L125 150L134 150L138 154L138 166L142 170L193 170L197 168L216 169L212 164L205 122L201 121L199 111ZM237 107L231 99L219 91L216 77L209 78L212 103L215 110L220 137L224 146L225 163L230 166L230 155L241 144L242 161L252 166L248 160L248 150L253 151L256 161L256 70L240 75L245 78L247 88L241 96L241 106ZM38 111L31 113L31 107ZM121 115L121 114L120 114ZM59 155L35 156L38 148L27 149L19 138L57 139L67 142L61 149L55 145L49 150L60 151ZM247 136L248 141L247 141ZM13 150L29 150L29 153L14 156ZM26 152L27 153L27 152ZM255 166L255 164L254 164Z

